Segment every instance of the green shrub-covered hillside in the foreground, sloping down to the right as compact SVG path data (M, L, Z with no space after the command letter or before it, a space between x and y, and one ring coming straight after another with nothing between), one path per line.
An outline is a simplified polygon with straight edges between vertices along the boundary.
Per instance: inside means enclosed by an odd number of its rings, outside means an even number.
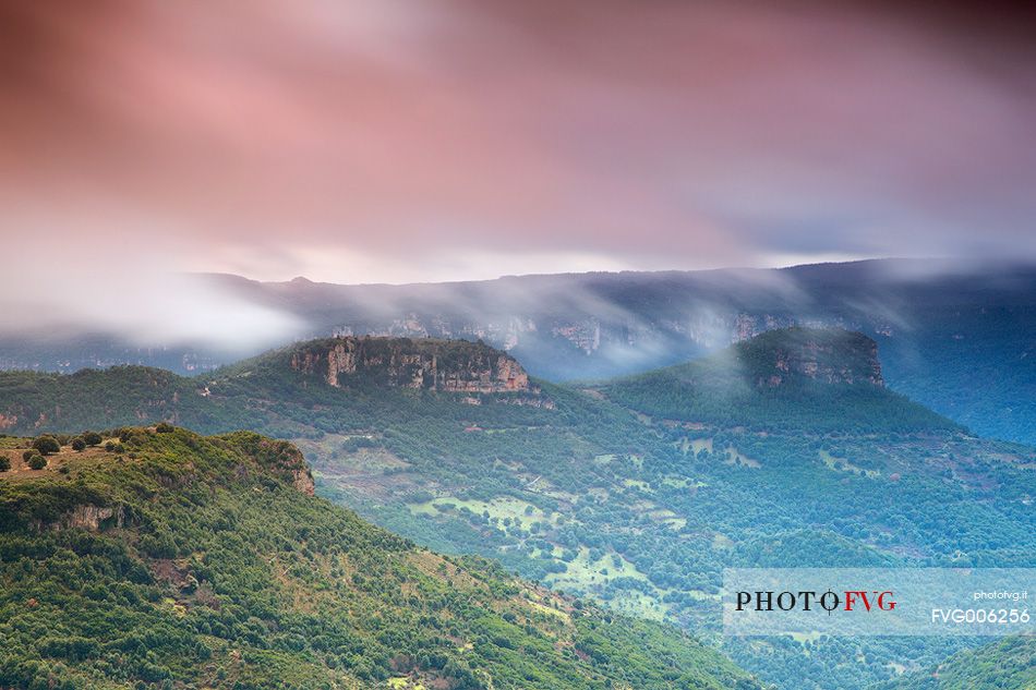
M40 470L2 439L0 687L760 688L674 629L315 498L285 441L113 434Z

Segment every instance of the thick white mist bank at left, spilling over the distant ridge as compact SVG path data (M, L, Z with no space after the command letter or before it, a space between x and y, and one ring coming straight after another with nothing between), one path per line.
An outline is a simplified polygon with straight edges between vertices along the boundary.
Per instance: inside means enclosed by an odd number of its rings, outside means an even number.
M89 335L236 356L303 332L293 314L180 271L169 245L132 237L47 243L32 232L9 241L5 277L20 287L0 292L0 338L74 346Z

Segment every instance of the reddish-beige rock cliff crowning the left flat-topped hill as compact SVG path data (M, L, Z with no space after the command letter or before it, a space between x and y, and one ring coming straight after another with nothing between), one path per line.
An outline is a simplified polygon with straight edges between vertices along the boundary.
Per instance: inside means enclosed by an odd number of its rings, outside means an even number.
M462 340L342 337L300 346L291 368L328 385L375 384L446 392L530 391L529 376L509 355Z

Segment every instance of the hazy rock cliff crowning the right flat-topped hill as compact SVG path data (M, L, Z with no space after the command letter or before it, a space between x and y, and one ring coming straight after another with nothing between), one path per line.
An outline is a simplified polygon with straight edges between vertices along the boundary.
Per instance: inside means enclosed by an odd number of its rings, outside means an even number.
M884 386L878 343L841 329L787 328L737 346L756 386L774 388L795 382Z

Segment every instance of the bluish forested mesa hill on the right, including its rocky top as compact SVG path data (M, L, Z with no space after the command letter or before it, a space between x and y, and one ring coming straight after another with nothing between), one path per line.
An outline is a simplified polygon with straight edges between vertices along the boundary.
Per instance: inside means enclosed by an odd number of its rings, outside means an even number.
M688 364L590 386L659 420L784 433L960 429L887 389L877 343L842 329L771 330Z

